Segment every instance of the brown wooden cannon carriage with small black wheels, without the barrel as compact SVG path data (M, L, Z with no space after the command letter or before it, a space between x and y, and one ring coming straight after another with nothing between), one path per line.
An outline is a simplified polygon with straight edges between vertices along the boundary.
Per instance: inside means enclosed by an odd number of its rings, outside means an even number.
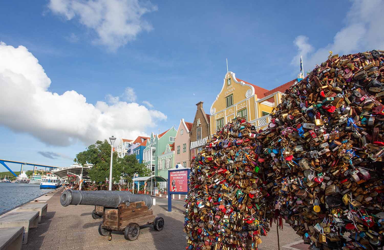
M161 231L164 228L164 219L155 218L152 209L148 210L144 202L132 202L128 207L123 203L118 208L103 207L103 223L99 225L99 233L109 236L111 231L124 231L126 240L136 240L140 234L140 226L147 224L152 224L155 230Z

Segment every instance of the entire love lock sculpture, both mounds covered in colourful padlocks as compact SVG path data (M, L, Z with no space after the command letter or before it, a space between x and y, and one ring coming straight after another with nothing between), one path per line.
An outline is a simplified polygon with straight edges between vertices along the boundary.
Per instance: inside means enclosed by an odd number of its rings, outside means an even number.
M383 51L329 56L263 131L234 119L194 159L189 249L256 249L285 218L317 249L384 245Z

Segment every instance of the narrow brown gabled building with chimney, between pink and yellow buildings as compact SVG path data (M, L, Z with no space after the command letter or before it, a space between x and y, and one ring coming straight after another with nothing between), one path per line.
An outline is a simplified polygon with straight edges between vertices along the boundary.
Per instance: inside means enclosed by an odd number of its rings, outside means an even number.
M195 118L190 129L190 159L202 149L210 135L210 115L206 114L203 108L203 102L196 104L197 110Z

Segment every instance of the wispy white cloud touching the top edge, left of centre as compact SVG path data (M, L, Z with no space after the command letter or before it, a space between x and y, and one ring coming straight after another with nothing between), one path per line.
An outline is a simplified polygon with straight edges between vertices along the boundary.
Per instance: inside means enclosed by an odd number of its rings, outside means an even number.
M111 50L134 40L142 31L151 31L152 25L142 16L157 10L156 5L138 0L50 0L48 8L67 20L78 19L97 33L95 41Z

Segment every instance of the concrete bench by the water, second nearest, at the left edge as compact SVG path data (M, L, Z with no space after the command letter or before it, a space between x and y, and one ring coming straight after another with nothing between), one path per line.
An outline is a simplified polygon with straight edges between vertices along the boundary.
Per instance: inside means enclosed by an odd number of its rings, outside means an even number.
M0 218L0 228L24 227L23 244L28 242L29 228L37 227L40 212L14 212ZM0 229L1 230L1 229Z

